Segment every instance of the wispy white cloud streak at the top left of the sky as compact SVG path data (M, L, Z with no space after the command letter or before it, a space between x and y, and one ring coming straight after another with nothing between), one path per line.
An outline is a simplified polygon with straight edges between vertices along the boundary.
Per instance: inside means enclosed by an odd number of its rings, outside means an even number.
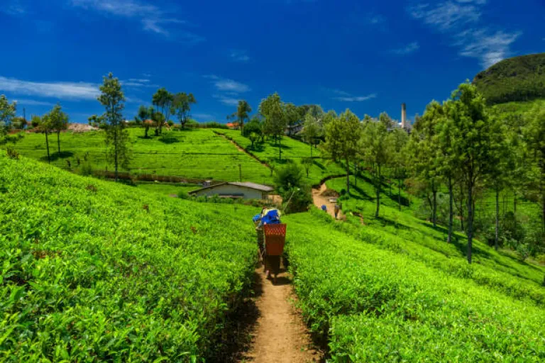
M184 25L186 21L172 16L172 13L158 6L137 0L72 0L72 5L82 9L93 9L123 18L137 18L143 30L177 38L187 43L198 43L204 40L201 36L187 30L172 31L172 25Z

